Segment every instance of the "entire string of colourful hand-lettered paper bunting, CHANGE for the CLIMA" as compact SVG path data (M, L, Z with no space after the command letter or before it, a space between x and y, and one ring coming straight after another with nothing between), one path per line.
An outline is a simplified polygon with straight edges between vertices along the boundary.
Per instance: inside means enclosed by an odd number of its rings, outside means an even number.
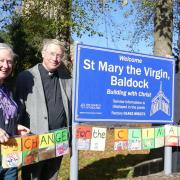
M107 128L76 126L78 150L104 151ZM180 146L180 126L148 128L114 128L114 150L149 150L163 146ZM46 134L10 138L1 144L2 167L19 167L69 153L67 128Z

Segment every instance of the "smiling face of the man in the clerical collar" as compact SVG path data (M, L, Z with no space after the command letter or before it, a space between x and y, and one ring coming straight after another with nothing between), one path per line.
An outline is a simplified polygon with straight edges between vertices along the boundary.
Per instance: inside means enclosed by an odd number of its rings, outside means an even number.
M42 64L48 71L53 72L60 66L62 56L63 52L60 46L49 44L47 48L42 51Z

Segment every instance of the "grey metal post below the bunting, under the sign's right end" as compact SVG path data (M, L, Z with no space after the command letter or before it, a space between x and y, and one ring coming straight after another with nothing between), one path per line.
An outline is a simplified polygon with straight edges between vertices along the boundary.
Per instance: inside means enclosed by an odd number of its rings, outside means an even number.
M172 147L164 148L164 174L172 173Z

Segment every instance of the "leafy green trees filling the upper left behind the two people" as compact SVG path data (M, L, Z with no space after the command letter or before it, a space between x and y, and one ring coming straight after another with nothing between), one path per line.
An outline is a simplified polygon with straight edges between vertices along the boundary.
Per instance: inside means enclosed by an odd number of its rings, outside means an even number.
M44 38L58 38L69 43L72 31L78 36L86 32L90 36L101 35L95 31L94 14L86 11L95 11L97 1L92 2L95 7L71 0L38 0L34 3L24 0L22 6L17 2L20 1L6 1L5 6L3 5L4 11L11 12L11 18L8 16L9 23L0 31L1 41L11 43L18 54L14 76L41 62L41 42ZM14 11L15 9L21 11Z

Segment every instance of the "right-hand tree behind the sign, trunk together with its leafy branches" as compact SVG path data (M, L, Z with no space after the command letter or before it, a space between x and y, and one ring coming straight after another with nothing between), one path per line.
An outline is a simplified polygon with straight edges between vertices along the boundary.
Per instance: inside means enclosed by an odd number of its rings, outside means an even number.
M178 33L180 2L142 0L134 1L134 6L138 9L138 13L135 18L136 31L133 34L132 44L153 37L155 55L172 54L173 46L177 47L173 34Z

